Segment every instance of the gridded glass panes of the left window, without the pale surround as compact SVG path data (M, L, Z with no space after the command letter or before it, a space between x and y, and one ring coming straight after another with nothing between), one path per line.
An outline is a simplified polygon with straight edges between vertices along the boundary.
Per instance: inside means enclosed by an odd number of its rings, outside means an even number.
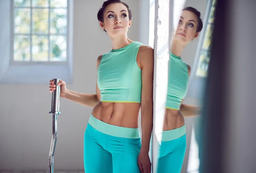
M13 61L67 61L67 0L14 0Z

